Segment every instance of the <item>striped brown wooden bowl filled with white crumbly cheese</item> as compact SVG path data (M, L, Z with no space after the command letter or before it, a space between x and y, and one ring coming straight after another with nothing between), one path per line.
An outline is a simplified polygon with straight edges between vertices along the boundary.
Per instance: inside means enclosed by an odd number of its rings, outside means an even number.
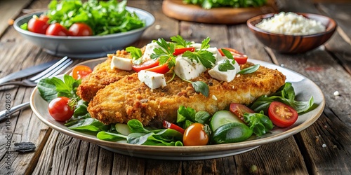
M288 35L271 33L270 31L265 31L255 26L258 22L261 22L266 18L271 18L274 14L277 13L258 15L247 20L246 24L261 43L283 53L303 53L313 50L328 41L337 27L337 24L333 19L312 13L297 14L303 15L305 18L322 22L322 25L326 27L325 31L317 34Z

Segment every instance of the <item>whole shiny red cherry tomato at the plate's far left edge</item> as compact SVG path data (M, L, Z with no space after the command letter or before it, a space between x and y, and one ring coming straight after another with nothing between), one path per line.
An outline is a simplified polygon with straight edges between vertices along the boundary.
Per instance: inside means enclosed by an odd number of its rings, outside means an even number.
M74 109L69 106L69 98L58 97L48 104L50 116L59 122L65 122L73 116Z

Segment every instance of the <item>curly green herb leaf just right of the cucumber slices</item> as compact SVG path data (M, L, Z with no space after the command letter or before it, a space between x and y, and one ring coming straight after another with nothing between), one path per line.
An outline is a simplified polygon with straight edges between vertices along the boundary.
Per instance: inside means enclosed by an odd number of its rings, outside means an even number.
M265 116L263 111L260 113L244 113L244 121L257 136L262 136L273 129L273 123Z

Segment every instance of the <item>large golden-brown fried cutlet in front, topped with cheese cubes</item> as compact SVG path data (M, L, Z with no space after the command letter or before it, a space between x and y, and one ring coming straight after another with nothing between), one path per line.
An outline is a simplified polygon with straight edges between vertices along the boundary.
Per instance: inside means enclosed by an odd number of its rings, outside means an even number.
M166 80L171 76L165 74ZM263 94L276 92L284 85L285 76L260 66L255 73L237 76L229 83L213 79L207 72L192 81L197 80L208 85L208 97L178 77L166 87L152 90L140 83L138 73L133 73L100 90L88 105L88 112L105 124L127 123L131 119L138 119L143 125L162 120L175 122L179 106L213 114L231 103L250 104Z

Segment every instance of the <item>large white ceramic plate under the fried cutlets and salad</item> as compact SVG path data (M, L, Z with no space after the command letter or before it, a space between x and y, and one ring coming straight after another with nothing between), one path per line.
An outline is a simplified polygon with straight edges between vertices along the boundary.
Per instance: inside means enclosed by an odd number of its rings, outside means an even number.
M92 59L81 64L93 67L100 62L103 62L105 59L106 58ZM69 130L67 127L65 127L65 125L63 125L63 123L59 123L51 118L48 113L48 102L44 101L44 99L40 97L37 87L32 92L30 104L32 110L37 115L39 120L41 120L49 127L53 128L53 130L57 130L58 132L62 132L63 134L67 134L71 137L81 139L83 141L98 144L102 148L105 148L114 153L121 153L124 155L140 158L154 158L162 160L204 160L245 153L246 151L251 151L260 145L269 144L274 141L285 139L286 137L291 137L293 134L296 134L312 125L312 123L314 123L319 118L324 109L325 100L322 91L316 84L314 84L308 78L300 75L299 73L285 69L281 66L258 61L255 59L249 59L249 61L255 64L269 67L271 69L278 69L279 71L282 71L282 73L286 75L286 81L293 84L297 99L300 101L307 101L311 96L313 96L314 103L317 104L317 107L308 113L300 115L296 123L294 123L291 127L274 128L271 133L265 134L262 137L255 136L251 137L247 141L234 144L176 147L139 146L116 143L112 141L102 141L97 139L95 136Z

